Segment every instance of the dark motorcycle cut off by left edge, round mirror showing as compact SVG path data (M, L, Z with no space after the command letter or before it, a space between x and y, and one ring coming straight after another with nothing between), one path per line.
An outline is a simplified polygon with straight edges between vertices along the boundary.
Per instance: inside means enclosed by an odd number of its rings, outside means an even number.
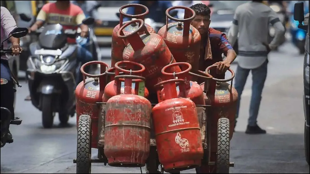
M16 27L11 32L10 37L13 36L16 38L20 38L20 37L26 36L27 33L28 33L27 28ZM10 48L8 48L8 49L3 48L3 42L7 41L10 37L6 38L4 41L1 42L1 56L5 55L5 54L11 54L12 53L12 50ZM19 85L15 81L15 79L13 79L13 81L18 85L18 87L21 87L21 85ZM1 79L1 85L6 84L6 83L7 83L6 79ZM5 146L5 144L7 143L7 133L9 132L10 124L20 125L22 120L19 120L19 119L20 119L19 117L12 118L12 113L10 112L10 110L5 108L5 107L1 107L1 122L0 122L0 125L1 125L1 128L0 128L1 129L0 147L1 148L3 146Z

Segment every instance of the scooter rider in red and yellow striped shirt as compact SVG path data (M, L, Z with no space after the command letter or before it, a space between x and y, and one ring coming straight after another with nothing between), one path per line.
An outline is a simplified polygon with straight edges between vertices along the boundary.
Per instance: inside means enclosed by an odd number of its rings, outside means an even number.
M81 28L81 37L88 36L88 26L82 24L85 19L85 14L80 7L70 3L70 1L56 1L45 4L40 10L36 22L29 29L30 31L36 31L38 28L42 27L44 23L47 24L61 24L64 29L76 30L79 25ZM67 42L70 44L76 44L76 39L67 38ZM77 63L86 63L93 59L92 54L87 49L77 45ZM83 77L80 73L79 66L77 67L77 78L76 82L78 85L82 81ZM27 96L27 99L30 98Z

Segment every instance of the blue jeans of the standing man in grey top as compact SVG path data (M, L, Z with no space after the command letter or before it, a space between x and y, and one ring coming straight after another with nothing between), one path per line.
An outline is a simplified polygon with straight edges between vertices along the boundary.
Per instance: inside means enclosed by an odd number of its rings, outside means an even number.
M257 125L257 115L259 111L260 101L262 99L262 91L265 84L266 76L267 76L267 64L268 59L260 66L255 69L244 69L238 65L236 76L235 76L235 89L238 92L238 101L237 101L237 113L236 113L236 123L239 115L239 107L241 94L244 89L244 85L246 84L246 79L249 75L250 70L252 71L252 95L250 101L250 111L249 111L249 119L248 125L255 126Z

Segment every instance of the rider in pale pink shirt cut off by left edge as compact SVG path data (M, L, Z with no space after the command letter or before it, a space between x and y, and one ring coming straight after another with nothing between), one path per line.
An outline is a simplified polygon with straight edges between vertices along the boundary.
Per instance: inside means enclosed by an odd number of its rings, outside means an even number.
M1 6L1 42L11 35L12 30L16 28L16 22L7 8ZM12 43L11 49L13 55L19 55L23 50L20 47L20 39L10 37ZM7 42L3 42L3 47L8 46ZM10 110L12 118L14 118L14 84L11 76L11 70L8 63L7 55L1 56L1 107ZM9 130L7 134L7 142L12 143L13 137Z

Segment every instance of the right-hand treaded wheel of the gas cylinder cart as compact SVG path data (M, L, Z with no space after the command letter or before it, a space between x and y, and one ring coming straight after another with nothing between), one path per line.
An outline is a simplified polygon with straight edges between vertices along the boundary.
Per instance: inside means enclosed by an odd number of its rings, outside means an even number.
M220 118L217 124L216 173L229 173L229 120Z

